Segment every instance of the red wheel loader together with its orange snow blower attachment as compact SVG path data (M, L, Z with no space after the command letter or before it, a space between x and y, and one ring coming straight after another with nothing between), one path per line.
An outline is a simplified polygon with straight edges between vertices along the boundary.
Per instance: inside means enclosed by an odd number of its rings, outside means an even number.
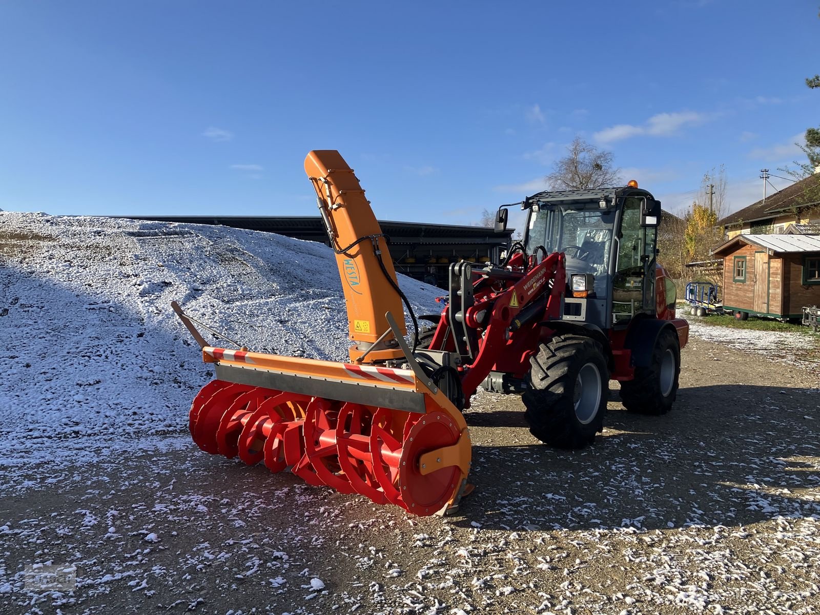
M441 313L417 317L353 169L323 150L305 171L342 280L349 362L212 346L173 303L216 371L189 412L200 449L424 516L471 490L462 410L479 386L522 395L531 433L567 449L603 430L610 379L628 410L672 408L689 326L656 262L660 203L634 181L503 205L496 228L520 206L523 240L502 262L453 263Z

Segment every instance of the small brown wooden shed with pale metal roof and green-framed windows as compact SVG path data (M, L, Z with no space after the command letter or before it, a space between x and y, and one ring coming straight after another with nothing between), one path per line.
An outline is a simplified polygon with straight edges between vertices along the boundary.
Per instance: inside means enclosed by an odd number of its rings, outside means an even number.
M736 235L713 250L723 259L723 308L783 319L820 305L820 235Z

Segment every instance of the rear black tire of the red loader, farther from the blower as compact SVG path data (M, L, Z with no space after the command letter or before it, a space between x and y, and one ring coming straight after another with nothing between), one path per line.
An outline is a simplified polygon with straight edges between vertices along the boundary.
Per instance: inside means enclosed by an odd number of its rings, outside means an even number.
M666 414L675 403L680 376L681 346L677 335L665 330L658 335L649 366L635 367L635 378L621 383L624 408L639 414Z

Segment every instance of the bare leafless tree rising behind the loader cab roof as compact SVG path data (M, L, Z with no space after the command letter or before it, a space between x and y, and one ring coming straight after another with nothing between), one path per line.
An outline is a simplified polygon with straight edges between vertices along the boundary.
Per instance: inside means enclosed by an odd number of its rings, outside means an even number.
M568 155L555 162L553 172L546 176L553 190L603 188L616 185L620 169L613 166L613 153L588 144L581 137L572 139Z

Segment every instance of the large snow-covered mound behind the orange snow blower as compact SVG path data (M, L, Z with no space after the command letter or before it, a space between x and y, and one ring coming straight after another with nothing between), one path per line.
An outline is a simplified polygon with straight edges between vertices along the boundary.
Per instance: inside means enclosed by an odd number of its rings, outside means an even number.
M417 312L437 311L440 289L405 276L399 284ZM171 300L253 350L348 356L344 296L324 245L2 212L0 464L76 461L186 434L191 400L212 371Z

